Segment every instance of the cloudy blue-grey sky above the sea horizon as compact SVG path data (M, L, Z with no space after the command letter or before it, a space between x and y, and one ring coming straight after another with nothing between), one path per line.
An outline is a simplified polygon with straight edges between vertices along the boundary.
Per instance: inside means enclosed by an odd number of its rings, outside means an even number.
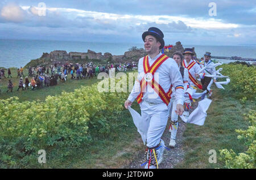
M255 45L256 1L0 2L0 39L142 43L150 27L166 44Z

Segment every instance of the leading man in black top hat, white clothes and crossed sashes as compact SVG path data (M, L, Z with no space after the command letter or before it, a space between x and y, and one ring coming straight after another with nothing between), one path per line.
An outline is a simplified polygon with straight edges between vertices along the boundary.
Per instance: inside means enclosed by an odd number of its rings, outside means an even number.
M164 142L161 139L170 112L172 87L175 87L176 113L183 114L184 88L179 67L174 59L160 53L164 47L163 32L151 27L142 34L147 55L139 59L138 79L125 108L133 101L141 106L141 117L148 123L145 168L158 168L162 161Z

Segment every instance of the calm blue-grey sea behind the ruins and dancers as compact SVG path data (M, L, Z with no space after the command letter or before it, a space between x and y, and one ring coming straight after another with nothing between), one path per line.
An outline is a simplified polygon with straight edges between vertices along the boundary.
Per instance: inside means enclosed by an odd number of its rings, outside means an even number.
M171 44L171 43L169 43ZM174 42L175 45L175 42ZM96 53L111 53L123 55L131 47L143 48L141 44L108 43L108 42L81 42L81 41L44 41L44 40L0 40L0 67L24 67L31 59L37 59L43 53L53 50L66 50L69 52L86 53L88 49ZM195 47L197 58L203 57L205 52L213 56L242 58L256 58L256 46L209 46L209 45L183 45L183 48ZM217 59L223 63L233 62L230 59Z

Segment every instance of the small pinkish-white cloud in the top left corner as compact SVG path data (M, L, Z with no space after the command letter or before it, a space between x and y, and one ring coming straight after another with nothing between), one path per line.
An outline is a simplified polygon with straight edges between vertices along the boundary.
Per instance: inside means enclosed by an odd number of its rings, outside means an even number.
M25 13L18 5L10 3L2 7L1 17L9 22L20 23L23 22Z

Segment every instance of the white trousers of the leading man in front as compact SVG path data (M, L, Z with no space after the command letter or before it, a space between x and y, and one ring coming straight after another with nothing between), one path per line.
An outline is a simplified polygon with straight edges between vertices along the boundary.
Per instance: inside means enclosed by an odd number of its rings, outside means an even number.
M162 102L160 104L150 105L142 101L140 106L142 119L149 121L147 147L156 147L160 143L160 139L167 125L170 104L166 106Z

